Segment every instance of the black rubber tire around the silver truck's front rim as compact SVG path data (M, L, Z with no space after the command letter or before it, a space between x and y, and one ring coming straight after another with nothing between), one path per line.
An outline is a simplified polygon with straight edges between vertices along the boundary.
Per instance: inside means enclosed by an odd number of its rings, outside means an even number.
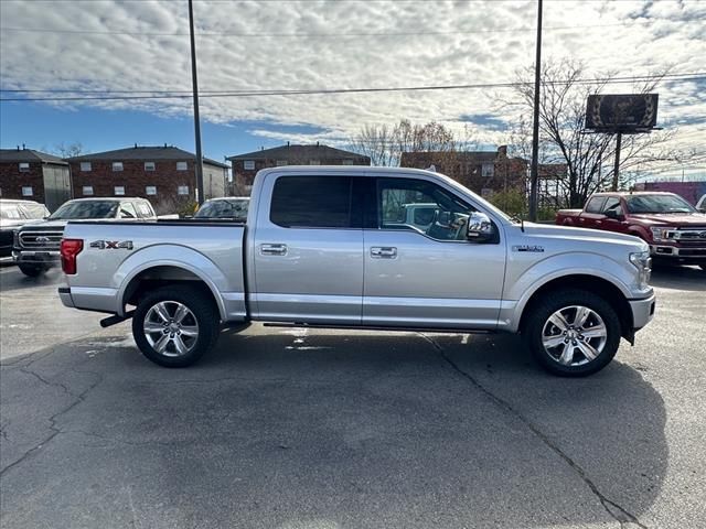
M595 346L596 341L600 342L601 339L586 338L580 334L577 339L569 339L568 342L559 343L554 346L555 348L549 347L552 353L545 348L543 343L545 325L548 326L548 330L554 328L557 333L550 333L546 336L547 338L564 338L561 330L553 327L554 324L549 322L549 317L557 311L565 309L568 310L567 314L571 314L569 307L574 306L590 309L590 311L593 312L593 315L590 317L595 319L597 315L600 319L600 323L603 324L606 337L602 348L600 348L600 353L595 356L595 358L589 359L587 356L584 356L582 350L576 348L575 352L570 353L571 358L574 358L571 361L576 361L576 365L565 365L560 363L560 359L556 356L557 353L565 350L565 347L569 346L569 343L578 344L578 347L582 347L586 343L591 345L592 342L592 345ZM528 306L526 310L528 311L527 317L524 321L522 328L522 335L525 344L532 350L534 358L539 363L539 365L553 375L560 377L586 377L588 375L592 375L610 364L618 352L621 337L620 320L611 304L600 295L578 289L558 290L547 293L544 299L533 303L532 306ZM599 322L599 320L593 321ZM570 330L574 333L577 332L574 331L573 326ZM593 352L595 350L598 349L595 348ZM584 364L580 364L580 361L584 361Z

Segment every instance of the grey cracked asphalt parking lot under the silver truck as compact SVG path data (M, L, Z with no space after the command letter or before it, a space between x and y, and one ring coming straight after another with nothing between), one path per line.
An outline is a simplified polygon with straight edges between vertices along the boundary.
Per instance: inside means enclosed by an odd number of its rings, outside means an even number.
M3 528L706 527L706 273L579 380L514 336L225 331L190 369L0 268Z

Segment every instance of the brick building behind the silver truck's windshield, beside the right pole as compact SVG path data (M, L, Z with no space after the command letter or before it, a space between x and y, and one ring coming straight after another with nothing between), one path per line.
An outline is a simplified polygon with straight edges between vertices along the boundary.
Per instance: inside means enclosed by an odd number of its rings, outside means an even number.
M403 152L399 164L416 169L429 169L434 165L437 172L452 177L484 197L513 188L524 192L528 165L522 158L509 158L506 145L499 147L495 152Z

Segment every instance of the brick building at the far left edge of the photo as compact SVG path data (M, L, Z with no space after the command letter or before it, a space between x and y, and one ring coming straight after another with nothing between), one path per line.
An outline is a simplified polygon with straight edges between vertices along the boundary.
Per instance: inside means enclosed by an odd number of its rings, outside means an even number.
M36 201L55 210L71 198L68 163L33 149L0 149L0 197Z

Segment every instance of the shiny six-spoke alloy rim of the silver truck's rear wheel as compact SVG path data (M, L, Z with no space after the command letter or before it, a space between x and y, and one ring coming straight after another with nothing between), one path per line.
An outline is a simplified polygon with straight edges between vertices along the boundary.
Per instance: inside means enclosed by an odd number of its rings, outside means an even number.
M145 316L145 337L164 356L182 356L196 345L199 322L186 305L178 301L160 301Z

